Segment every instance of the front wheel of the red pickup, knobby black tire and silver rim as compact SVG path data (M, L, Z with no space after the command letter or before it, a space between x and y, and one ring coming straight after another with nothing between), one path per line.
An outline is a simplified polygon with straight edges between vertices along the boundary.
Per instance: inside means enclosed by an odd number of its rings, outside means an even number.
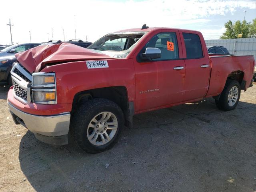
M114 102L96 98L82 104L72 114L70 128L75 143L88 153L110 149L124 126L124 115Z

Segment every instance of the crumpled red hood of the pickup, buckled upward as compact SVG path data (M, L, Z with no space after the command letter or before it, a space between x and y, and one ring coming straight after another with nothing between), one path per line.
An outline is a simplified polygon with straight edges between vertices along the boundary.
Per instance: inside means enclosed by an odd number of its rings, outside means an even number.
M31 73L42 70L48 63L112 59L106 54L70 43L42 44L22 53L17 53L15 56L18 62Z

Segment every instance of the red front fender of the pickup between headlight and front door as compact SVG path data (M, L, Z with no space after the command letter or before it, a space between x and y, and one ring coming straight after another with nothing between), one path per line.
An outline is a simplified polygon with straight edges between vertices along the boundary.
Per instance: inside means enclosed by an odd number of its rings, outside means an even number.
M134 65L131 59L109 59L108 68L87 68L86 61L47 66L42 72L55 72L58 104L72 103L76 93L110 86L125 86L128 101L135 99Z

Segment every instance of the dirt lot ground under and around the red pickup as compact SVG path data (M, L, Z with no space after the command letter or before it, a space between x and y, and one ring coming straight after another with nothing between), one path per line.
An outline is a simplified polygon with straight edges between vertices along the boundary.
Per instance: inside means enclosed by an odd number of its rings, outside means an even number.
M213 99L134 117L100 154L35 139L0 88L0 191L256 191L256 84L236 110ZM109 166L108 166L109 165Z

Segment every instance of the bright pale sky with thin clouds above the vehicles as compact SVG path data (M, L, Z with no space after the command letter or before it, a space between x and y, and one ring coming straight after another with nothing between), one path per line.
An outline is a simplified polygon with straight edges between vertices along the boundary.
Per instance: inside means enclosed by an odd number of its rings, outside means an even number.
M12 0L1 2L0 44L10 44L11 18L14 43L76 38L94 42L116 30L163 26L199 30L205 39L218 39L228 20L256 18L256 0ZM9 8L12 8L10 11ZM53 29L53 30L51 30ZM52 34L53 31L53 34Z

